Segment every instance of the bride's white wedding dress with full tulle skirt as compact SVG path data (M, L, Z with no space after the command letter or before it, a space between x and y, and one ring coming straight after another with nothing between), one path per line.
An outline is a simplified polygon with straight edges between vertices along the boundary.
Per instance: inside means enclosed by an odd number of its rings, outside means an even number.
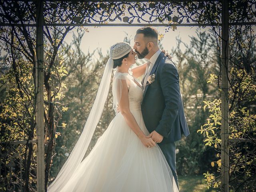
M139 83L128 73L117 72L114 79L126 80L130 111L148 135L142 118L143 92ZM178 188L159 146L146 148L119 112L62 191L178 192Z

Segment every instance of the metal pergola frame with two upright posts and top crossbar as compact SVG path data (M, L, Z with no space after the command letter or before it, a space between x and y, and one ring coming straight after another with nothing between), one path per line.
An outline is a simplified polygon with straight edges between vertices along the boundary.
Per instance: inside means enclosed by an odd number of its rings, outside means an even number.
M229 134L229 101L228 101L228 69L229 69L229 26L232 25L256 25L256 22L233 22L229 23L229 14L228 14L228 1L227 0L213 0L218 1L222 4L222 18L221 24L63 24L63 23L55 23L55 24L47 24L44 23L44 14L43 8L41 6L42 2L46 2L48 0L37 0L36 2L36 24L3 24L0 26L25 26L25 27L36 27L36 140L37 142L37 190L38 192L44 192L44 34L43 28L44 26L222 26L222 121L221 121L221 191L228 192L229 191L229 142L246 142L244 140L232 140L228 139ZM50 1L50 0L49 0ZM79 0L82 2L82 0ZM194 0L193 2L206 2L208 0ZM33 1L34 2L34 1ZM58 2L58 0L52 0L51 2ZM114 2L112 0L106 1L98 1L91 0L90 2ZM136 1L136 0L128 0L123 1L119 0L118 2L144 2L144 1ZM152 2L187 2L186 0L162 0L156 1L152 0ZM21 141L20 141L21 142Z

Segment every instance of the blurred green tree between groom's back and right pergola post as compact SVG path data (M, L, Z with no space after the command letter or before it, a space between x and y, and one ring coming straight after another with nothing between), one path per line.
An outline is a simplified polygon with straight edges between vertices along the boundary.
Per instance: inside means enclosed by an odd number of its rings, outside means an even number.
M177 171L183 175L203 173L209 168L208 162L212 156L211 150L204 147L203 137L196 134L196 130L208 116L203 110L202 101L217 92L216 87L206 82L210 73L218 71L218 61L211 32L198 31L196 34L197 36L190 37L190 44L176 38L177 46L171 51L176 58L182 101L190 129L190 136L179 141L176 146ZM182 43L186 47L184 52L180 48Z

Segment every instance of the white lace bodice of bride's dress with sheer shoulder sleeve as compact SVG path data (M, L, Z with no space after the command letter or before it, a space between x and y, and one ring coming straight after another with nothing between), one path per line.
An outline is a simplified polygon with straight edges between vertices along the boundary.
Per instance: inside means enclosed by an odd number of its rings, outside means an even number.
M122 80L126 80L126 84L129 90L128 98L130 110L140 110L143 97L143 91L140 82L138 82L131 74L120 72L116 72L113 77L112 94L114 110L117 112L116 108L121 98Z

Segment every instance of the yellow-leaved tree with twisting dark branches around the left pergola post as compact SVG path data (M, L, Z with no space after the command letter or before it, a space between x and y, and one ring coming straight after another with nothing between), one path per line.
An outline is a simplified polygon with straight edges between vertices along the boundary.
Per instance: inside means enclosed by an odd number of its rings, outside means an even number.
M2 133L1 144L12 140L26 140L27 143L23 147L24 154L21 154L24 161L23 178L20 178L24 183L26 191L33 190L30 186L32 178L30 174L35 176L34 172L30 171L32 166L32 155L35 148L29 143L29 140L35 138L35 110L36 110L36 28L26 27L26 23L37 23L36 5L44 5L44 21L77 21L79 14L87 15L88 17L80 18L80 22L88 20L93 17L94 8L97 3L78 3L63 2L59 4L43 3L42 1L34 2L17 2L4 1L0 5L0 12L2 17L1 23L16 24L18 26L1 26L0 27L0 41L1 48L7 52L6 65L11 66L9 72L2 77L5 82L10 82L14 88L6 87L6 98L4 104L1 104L1 120ZM80 10L78 6L87 6L88 9ZM68 7L74 8L72 12ZM56 10L59 10L58 13ZM107 17L108 18L108 17ZM68 72L62 66L62 58L65 50L62 49L62 42L66 34L72 30L74 26L45 26L44 30L44 123L45 123L45 188L48 184L48 176L50 166L52 163L52 155L55 147L56 127L61 119L62 112L59 101L64 95L60 94L62 83L60 77L65 76ZM86 30L86 29L84 29ZM15 101L15 102L14 102ZM16 112L16 108L20 109L20 116ZM18 118L17 118L18 117ZM25 123L26 122L26 123ZM14 124L15 123L15 124ZM10 132L8 132L10 131ZM11 137L6 135L11 134ZM8 149L2 146L3 152ZM6 157L7 158L7 157ZM8 162L8 161L4 161ZM6 165L6 164L5 164ZM23 168L23 165L20 165ZM6 169L5 176L10 175L10 169ZM18 175L18 174L17 174ZM32 178L32 179L30 179ZM2 178L5 179L5 178ZM10 176L12 179L12 176ZM6 183L6 182L5 182Z

